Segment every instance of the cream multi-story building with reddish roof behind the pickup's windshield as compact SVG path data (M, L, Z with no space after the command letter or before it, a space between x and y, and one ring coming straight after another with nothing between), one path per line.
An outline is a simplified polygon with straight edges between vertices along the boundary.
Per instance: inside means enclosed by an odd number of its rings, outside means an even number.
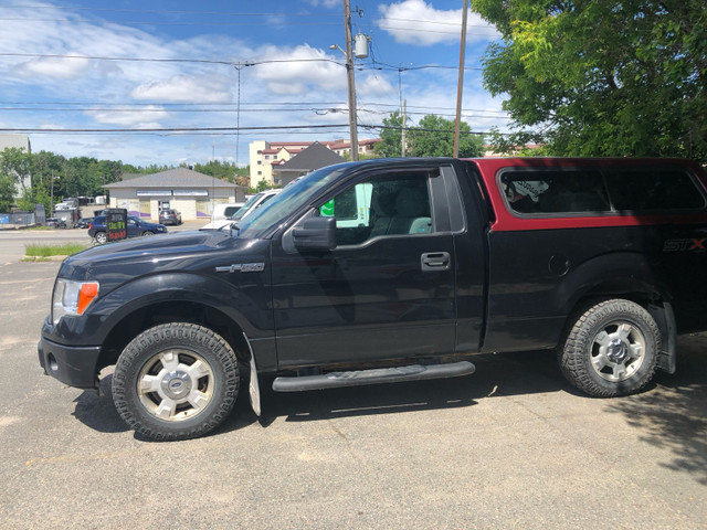
M358 140L359 155L373 155L373 146L379 138ZM251 187L257 188L262 181L270 186L278 184L273 174L273 168L285 163L287 160L312 146L314 141L251 141L249 146L249 160L251 163ZM341 157L350 157L351 142L349 140L321 140L319 141Z

